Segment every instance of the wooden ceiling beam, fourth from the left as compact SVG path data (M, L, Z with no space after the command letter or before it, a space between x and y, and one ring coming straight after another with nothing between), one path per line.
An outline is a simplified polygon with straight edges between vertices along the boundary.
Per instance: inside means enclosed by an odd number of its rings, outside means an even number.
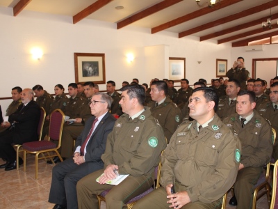
M208 13L213 13L216 10L220 10L221 8L231 6L234 3L238 3L243 0L223 0L220 1L219 3L216 3L215 6L212 8L202 8L200 10L196 10L193 13L189 13L187 15L183 15L182 17L179 17L177 19L171 20L170 22L166 22L164 24L161 24L159 26L156 26L152 28L152 33L157 33L159 31L163 31L165 29L169 29L172 26L176 26L178 24L181 24L183 22L186 22L188 20L193 20L196 17L201 17L202 15L206 15Z

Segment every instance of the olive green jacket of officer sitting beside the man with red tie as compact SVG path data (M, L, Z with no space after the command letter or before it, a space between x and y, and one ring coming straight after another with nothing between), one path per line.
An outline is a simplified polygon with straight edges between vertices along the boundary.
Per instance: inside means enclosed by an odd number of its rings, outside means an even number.
M134 120L129 119L128 114L117 119L113 131L108 135L101 160L104 169L109 164L116 164L120 174L149 176L154 173L165 147L163 129L145 107L145 111Z

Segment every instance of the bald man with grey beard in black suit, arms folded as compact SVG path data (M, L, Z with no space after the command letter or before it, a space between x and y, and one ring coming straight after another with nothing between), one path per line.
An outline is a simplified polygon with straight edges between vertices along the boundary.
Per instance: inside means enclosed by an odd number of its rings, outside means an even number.
M12 144L23 144L28 141L38 140L38 123L40 121L40 107L33 100L32 89L25 88L22 91L22 104L17 111L8 118L8 130L3 132L0 137L0 157L6 160L0 168L10 171L17 168L16 152ZM23 160L19 157L19 164Z

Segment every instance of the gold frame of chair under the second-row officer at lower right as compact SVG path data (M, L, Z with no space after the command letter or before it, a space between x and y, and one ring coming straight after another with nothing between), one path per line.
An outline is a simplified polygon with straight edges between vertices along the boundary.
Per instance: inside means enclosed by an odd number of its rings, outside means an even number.
M276 131L275 129L272 127L272 134L273 134L273 144L275 144L275 140L276 140ZM268 183L268 178L270 176L270 162L266 165L266 171L265 171L265 181L263 183L261 183L261 185L257 186L254 190L254 194L253 194L253 204L252 204L252 208L256 209L256 201L258 199L260 199L263 195L266 194L266 197L268 198L268 206L270 207L270 184ZM261 194L258 194L259 191L261 191L261 189L265 188L265 191L261 192Z

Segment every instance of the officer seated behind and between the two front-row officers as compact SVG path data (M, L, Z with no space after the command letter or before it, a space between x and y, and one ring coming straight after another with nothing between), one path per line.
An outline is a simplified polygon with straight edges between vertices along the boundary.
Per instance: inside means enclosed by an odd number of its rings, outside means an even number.
M152 116L156 118L163 127L164 135L169 143L172 134L182 121L181 109L174 104L167 95L168 87L166 82L152 82L150 95L152 102L147 104Z

